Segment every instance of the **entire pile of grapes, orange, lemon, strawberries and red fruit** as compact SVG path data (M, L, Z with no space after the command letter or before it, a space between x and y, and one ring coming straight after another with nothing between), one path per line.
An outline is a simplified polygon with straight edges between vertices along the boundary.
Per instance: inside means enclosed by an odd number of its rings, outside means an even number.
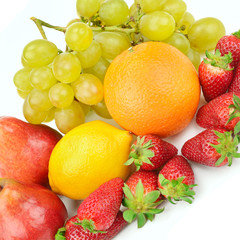
M32 18L43 39L25 46L14 76L28 123L0 117L0 240L113 239L135 220L153 221L163 202L192 204L191 162L240 158L239 32L195 22L182 0L76 6L67 27ZM64 52L43 27L64 32ZM90 109L123 129L84 123ZM163 139L195 114L204 130L181 149ZM53 119L63 136L40 124ZM82 200L74 216L57 194Z

